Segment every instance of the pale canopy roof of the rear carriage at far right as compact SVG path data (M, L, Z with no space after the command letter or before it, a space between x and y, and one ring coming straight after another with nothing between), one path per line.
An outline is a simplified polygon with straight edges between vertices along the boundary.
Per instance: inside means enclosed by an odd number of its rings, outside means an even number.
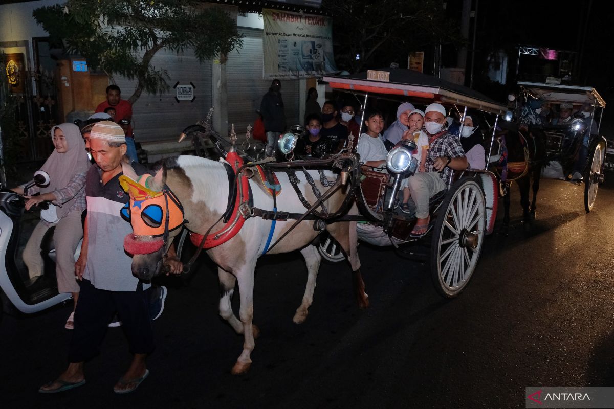
M592 86L546 84L541 82L519 81L518 85L537 99L545 99L554 104L571 102L582 105L591 104L605 108L605 101Z

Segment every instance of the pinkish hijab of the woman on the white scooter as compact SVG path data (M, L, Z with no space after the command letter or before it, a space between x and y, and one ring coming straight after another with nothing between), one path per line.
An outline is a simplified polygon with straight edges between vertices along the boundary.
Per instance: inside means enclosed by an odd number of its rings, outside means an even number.
M79 127L72 123L63 123L51 128L51 138L55 130L60 128L66 138L68 150L65 153L59 153L53 150L47 161L41 167L49 174L51 182L46 188L41 188L41 193L50 193L58 189L65 188L71 181L74 175L78 175L87 171L90 167L90 161L87 158L85 151L85 142L79 131ZM77 195L78 196L78 195ZM68 202L61 204L61 207L56 208L58 218L62 218L68 210L70 210L77 196L72 197Z

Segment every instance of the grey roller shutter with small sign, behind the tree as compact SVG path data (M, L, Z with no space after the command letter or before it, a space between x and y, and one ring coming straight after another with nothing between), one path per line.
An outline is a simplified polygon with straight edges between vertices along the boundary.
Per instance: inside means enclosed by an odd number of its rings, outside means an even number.
M211 108L211 62L199 63L192 50L185 50L179 56L160 50L153 57L152 66L166 69L171 87L177 81L182 85L192 82L195 99L177 102L173 88L162 95L142 93L133 107L134 136L137 142L176 140L186 126L204 120ZM136 80L118 76L115 82L123 98L134 92Z

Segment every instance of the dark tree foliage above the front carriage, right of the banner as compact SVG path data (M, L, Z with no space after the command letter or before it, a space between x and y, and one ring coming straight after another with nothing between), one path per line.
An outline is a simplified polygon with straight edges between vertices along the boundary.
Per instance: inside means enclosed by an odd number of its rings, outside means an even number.
M446 18L438 0L322 0L322 9L333 15L335 62L351 72L403 66L410 52L461 44L459 23Z

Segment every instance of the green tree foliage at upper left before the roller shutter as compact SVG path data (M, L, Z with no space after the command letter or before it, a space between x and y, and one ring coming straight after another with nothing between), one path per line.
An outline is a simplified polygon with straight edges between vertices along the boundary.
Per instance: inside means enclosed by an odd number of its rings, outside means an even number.
M136 78L132 103L143 90L169 90L165 69L151 64L158 51L180 54L193 48L202 62L243 45L227 12L194 0L68 0L36 9L33 16L66 52L84 56L111 76Z

